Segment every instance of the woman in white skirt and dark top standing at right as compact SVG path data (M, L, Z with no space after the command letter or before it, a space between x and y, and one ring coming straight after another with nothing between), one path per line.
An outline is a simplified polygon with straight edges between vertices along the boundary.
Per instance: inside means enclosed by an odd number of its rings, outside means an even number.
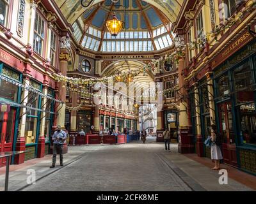
M221 149L220 146L216 145L216 137L217 137L217 129L216 125L212 124L211 125L211 158L214 160L215 166L212 168L212 170L220 170L220 160L223 159L222 154L221 154Z

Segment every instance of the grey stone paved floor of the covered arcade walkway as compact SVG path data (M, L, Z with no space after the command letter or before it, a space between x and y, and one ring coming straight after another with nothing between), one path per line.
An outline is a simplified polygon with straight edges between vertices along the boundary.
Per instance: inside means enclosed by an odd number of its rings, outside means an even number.
M228 177L220 185L221 175L208 166L177 152L163 143L90 145L68 147L65 166L49 169L51 156L11 166L10 191L252 191ZM58 159L58 158L57 158ZM226 166L223 165L223 168ZM27 170L36 172L36 184L28 185ZM239 170L234 170L239 171ZM233 172L234 174L234 172ZM252 179L256 177L250 175ZM251 180L252 180L251 179ZM0 168L0 191L4 186L4 168ZM251 186L252 187L252 186ZM255 186L256 187L256 186Z

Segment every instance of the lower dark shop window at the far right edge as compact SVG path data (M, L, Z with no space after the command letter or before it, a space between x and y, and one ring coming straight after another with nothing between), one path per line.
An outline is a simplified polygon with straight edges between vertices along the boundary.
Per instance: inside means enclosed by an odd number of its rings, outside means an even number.
M238 107L240 112L241 136L243 143L256 145L256 111L255 103L248 103Z

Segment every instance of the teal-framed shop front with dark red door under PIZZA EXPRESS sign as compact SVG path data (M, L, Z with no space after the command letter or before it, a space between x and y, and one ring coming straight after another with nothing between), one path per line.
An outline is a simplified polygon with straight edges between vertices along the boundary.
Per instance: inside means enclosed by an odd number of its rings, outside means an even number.
M214 69L216 123L224 162L256 173L256 41Z

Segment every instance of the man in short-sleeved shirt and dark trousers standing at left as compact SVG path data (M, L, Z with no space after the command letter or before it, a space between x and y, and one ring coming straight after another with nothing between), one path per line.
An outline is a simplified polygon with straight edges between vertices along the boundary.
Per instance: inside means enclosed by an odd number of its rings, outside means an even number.
M60 166L63 166L63 143L67 139L67 134L65 131L61 130L61 126L57 126L57 130L52 135L53 141L53 155L52 155L52 165L50 168L54 168L56 164L57 151L60 154Z

